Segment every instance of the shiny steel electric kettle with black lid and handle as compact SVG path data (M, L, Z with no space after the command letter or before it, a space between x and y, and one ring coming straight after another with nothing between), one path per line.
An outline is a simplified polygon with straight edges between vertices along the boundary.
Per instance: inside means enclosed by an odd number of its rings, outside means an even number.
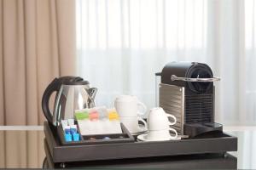
M73 119L74 111L95 107L97 88L90 88L90 83L81 77L55 78L45 89L42 99L44 116L54 126L61 120ZM56 92L53 114L49 111L49 98Z

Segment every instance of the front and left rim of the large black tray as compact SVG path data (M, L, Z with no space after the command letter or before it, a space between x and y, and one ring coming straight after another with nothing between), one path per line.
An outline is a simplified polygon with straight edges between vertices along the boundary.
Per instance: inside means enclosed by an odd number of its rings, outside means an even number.
M209 134L201 139L72 146L62 146L48 122L44 122L44 133L54 162L224 153L237 150L237 138L226 133Z

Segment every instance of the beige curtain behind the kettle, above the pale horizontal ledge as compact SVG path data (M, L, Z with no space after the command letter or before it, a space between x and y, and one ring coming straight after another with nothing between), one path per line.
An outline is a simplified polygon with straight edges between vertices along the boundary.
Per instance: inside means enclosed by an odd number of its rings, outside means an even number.
M44 122L54 77L75 71L74 0L0 0L0 125Z

